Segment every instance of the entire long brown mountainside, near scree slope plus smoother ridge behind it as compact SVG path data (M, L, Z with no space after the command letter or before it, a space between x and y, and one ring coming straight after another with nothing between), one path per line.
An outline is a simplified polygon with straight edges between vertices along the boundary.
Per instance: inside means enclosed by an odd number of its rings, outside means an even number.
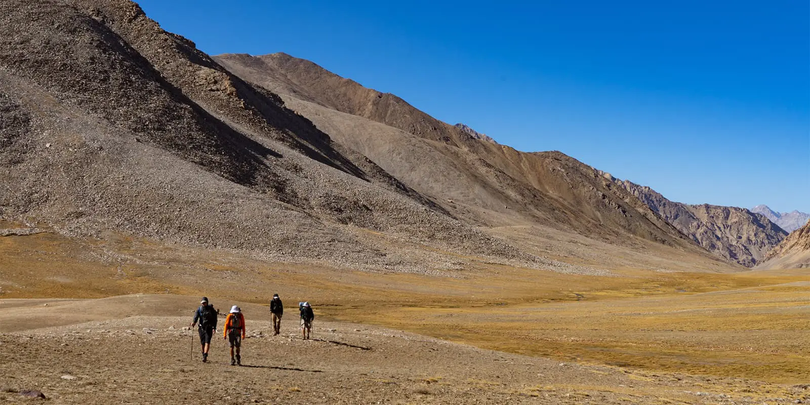
M25 27L0 36L0 223L372 271L738 270L560 152L211 58L128 0L9 0L0 26Z

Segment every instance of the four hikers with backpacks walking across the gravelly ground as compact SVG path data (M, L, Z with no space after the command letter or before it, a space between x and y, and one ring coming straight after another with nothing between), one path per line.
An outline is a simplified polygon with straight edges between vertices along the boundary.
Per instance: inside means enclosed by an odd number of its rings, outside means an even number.
M298 310L301 315L301 337L309 339L315 313L313 313L309 301L299 302ZM273 323L273 335L279 335L281 333L281 317L284 313L284 305L279 294L273 294L273 299L270 301L270 313ZM191 320L192 328L194 325L198 326L200 346L203 351L203 363L208 361L208 350L211 348L211 339L214 338L216 333L218 314L219 311L214 309L214 306L208 302L208 297L203 296L203 299L200 300L200 306L194 311L194 319ZM231 365L242 365L240 349L242 339L245 339L245 315L239 306L233 305L231 307L228 316L225 318L223 329L222 339L228 339L231 346Z

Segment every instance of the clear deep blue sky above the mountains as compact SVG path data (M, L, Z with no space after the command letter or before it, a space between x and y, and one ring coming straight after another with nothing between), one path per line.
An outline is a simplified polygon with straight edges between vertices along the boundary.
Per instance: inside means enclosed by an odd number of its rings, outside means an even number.
M139 0L211 54L285 52L682 203L810 212L810 4Z

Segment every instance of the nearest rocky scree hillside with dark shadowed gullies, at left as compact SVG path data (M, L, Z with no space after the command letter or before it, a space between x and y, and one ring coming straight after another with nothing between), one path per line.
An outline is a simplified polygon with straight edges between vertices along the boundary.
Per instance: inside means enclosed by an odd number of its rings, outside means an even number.
M26 27L0 37L2 219L361 268L535 266L133 2L2 2L0 26Z

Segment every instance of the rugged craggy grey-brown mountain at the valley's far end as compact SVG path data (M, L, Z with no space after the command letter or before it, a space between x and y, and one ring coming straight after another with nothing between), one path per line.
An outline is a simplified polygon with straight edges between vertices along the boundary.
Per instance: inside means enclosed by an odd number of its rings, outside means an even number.
M616 183L699 245L743 266L756 266L770 249L787 237L787 232L765 215L744 208L675 203L650 187L627 180L616 179Z

